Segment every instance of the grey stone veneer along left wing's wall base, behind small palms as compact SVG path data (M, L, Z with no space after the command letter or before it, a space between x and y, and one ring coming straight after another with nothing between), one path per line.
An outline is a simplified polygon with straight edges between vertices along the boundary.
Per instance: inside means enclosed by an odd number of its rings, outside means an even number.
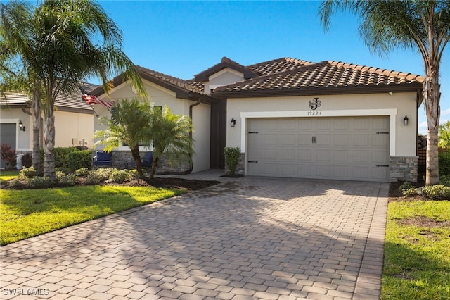
M146 155L146 151L139 151L141 161L143 156ZM96 151L92 152L92 157L96 155ZM113 151L112 166L119 170L134 168L132 164L133 158L131 157L131 151ZM97 167L96 167L97 168ZM159 173L182 173L190 170L191 165L189 160L186 159L172 159L169 160L166 154L162 155L160 161L158 161L157 174Z

